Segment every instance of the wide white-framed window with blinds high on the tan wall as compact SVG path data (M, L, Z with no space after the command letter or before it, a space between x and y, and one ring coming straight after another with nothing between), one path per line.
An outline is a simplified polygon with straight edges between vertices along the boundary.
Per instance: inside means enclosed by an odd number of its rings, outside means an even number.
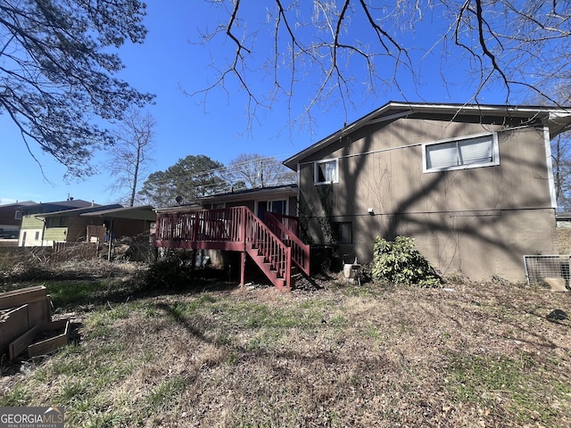
M500 165L496 133L423 144L422 149L424 172Z

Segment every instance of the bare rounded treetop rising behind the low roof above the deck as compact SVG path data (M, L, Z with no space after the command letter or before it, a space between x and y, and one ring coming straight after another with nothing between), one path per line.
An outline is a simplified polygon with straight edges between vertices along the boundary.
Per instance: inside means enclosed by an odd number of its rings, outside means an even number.
M235 189L236 185L256 188L291 184L296 181L294 171L287 169L276 158L258 153L241 153L228 163L221 175Z

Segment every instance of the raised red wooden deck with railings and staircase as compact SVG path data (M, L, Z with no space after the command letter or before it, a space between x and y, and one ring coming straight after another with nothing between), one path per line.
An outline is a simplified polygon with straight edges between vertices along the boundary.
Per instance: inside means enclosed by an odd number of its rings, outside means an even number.
M265 221L246 207L159 213L155 246L242 253L241 284L248 254L279 289L291 286L292 266L310 275L310 247L297 236L297 218L266 213Z

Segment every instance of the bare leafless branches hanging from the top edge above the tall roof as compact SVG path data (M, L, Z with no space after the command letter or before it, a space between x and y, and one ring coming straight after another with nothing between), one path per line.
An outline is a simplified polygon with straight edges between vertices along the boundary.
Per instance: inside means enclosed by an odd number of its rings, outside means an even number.
M403 82L418 84L434 54L444 84L470 73L476 86L467 102L492 88L506 103L530 94L556 103L554 84L571 80L568 0L205 1L217 8L219 25L203 31L203 43L220 44L211 86L194 95L237 84L251 119L284 97L290 121L298 119L294 97L308 90L305 120L316 106L342 103L346 112L354 98L389 89L408 99Z

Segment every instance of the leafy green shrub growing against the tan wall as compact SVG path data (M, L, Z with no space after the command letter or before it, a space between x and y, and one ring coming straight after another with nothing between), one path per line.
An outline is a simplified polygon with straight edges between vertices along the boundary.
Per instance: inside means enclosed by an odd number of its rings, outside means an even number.
M442 279L415 248L414 239L397 236L393 242L378 237L373 243L373 278L394 284L437 287Z

